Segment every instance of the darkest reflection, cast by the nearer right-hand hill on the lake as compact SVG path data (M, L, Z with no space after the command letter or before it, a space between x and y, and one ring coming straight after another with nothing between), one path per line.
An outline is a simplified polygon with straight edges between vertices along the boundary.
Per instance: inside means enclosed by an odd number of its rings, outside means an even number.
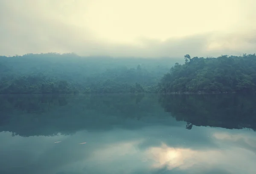
M161 95L159 102L177 121L186 121L186 129L192 125L256 129L253 95Z

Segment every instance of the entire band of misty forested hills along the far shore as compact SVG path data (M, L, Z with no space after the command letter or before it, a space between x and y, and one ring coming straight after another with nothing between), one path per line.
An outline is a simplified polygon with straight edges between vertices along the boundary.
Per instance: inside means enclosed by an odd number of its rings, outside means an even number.
M0 56L0 94L240 93L256 90L256 55L143 59L74 53ZM175 63L176 62L176 63ZM183 64L181 64L184 62Z

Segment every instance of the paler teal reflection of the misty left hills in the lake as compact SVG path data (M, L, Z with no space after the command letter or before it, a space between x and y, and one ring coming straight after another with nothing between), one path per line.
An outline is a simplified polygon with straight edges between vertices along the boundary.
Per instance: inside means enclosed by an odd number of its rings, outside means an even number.
M162 110L157 95L2 95L0 131L35 136L128 126Z

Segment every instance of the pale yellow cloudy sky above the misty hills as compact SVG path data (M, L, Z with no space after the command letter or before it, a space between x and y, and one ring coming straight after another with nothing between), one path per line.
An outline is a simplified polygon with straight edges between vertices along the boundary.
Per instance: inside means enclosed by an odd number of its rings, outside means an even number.
M254 53L255 0L0 0L0 55Z

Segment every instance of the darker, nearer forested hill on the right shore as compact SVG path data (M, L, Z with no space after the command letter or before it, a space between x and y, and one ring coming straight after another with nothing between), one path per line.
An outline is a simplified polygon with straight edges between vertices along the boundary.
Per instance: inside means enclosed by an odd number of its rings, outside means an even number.
M256 91L256 55L191 58L176 63L159 83L160 93L232 93Z

